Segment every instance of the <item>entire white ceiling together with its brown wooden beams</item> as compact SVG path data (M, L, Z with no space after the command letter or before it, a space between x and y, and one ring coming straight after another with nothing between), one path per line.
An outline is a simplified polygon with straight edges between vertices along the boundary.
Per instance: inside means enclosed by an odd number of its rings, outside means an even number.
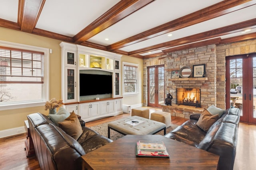
M0 27L150 58L255 39L256 0L1 0Z

